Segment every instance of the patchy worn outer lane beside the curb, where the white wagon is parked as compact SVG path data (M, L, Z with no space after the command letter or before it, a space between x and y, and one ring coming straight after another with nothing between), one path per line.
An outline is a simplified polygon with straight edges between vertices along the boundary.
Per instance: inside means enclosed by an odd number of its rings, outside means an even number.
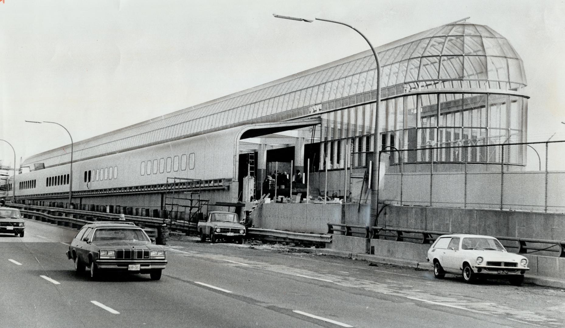
M467 312L503 317L507 322L528 322L534 325L557 325L565 312L565 294L544 287L514 287L500 281L467 285L455 275L440 280L435 279L429 271L390 265L370 266L365 261L332 256L280 253L280 249L273 251L272 248L264 248L263 251L257 251L233 244L199 243L190 238L182 239L189 240L184 245L191 250L215 254L219 260L231 258L233 261L250 263L247 259L257 260L263 257L263 261L272 264L307 268L316 273L315 277L334 281L340 286L368 288L381 294L399 295L420 303L423 307L464 308ZM182 247L183 243L173 242L173 247L174 244ZM232 257L221 257L222 253ZM290 263L290 258L298 262Z

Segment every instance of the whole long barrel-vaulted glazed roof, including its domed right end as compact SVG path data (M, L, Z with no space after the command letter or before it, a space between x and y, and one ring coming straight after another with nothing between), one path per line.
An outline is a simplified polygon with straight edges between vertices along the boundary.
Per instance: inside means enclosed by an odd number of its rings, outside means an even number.
M376 48L382 97L411 90L504 89L526 85L514 48L485 25L452 23ZM74 160L231 128L307 116L376 99L376 63L370 50L255 88L227 95L74 145ZM24 164L68 163L68 145L33 155Z

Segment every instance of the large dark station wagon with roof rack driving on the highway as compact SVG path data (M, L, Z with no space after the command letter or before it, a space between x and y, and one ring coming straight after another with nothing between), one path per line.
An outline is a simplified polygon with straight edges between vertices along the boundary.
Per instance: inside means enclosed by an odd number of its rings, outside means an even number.
M101 270L149 273L159 280L167 265L166 251L152 244L143 229L129 222L92 222L80 229L67 251L77 273L90 269L96 279Z

